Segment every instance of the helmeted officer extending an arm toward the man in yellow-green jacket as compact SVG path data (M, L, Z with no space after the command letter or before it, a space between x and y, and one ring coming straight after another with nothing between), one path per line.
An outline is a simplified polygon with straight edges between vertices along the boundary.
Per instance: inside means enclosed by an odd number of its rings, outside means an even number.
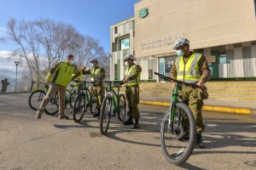
M93 83L93 91L96 93L97 96L97 105L98 105L98 112L96 112L93 116L100 116L102 101L104 99L105 90L101 81L105 79L105 70L99 66L99 62L97 59L90 59L90 66L91 70L84 71L83 74L90 74L90 81L95 82Z

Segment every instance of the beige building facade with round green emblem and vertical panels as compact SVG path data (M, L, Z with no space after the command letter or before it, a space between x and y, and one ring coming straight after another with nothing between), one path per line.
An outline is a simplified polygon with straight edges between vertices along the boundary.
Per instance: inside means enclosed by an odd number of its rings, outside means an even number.
M142 65L142 80L169 76L182 37L207 57L211 80L256 79L256 0L142 0L135 16L111 26L111 79L124 76L125 54Z

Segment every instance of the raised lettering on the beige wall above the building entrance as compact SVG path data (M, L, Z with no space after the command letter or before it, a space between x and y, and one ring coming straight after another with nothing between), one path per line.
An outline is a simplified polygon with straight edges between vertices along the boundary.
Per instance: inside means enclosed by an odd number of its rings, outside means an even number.
M141 42L141 48L143 51L154 49L154 48L165 48L165 47L171 48L174 46L174 43L182 37L185 37L184 33L155 38L149 41Z

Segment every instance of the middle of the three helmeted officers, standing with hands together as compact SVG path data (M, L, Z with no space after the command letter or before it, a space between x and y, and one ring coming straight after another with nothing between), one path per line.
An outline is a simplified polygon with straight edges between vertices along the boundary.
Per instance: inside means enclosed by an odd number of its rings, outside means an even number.
M141 83L142 67L134 63L134 57L131 54L125 55L124 62L126 71L121 84L125 84L126 88L125 95L129 106L129 119L123 123L124 125L131 125L133 124L132 119L135 119L134 128L138 128L140 113L137 105L139 104L139 84Z

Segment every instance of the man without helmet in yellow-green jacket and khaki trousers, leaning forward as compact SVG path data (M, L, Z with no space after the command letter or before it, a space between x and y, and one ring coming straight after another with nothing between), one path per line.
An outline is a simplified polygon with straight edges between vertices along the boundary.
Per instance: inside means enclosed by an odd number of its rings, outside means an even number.
M80 71L74 68L74 56L67 55L67 59L64 62L60 62L55 65L54 68L49 70L46 77L46 84L50 84L49 91L44 97L35 118L40 119L44 112L45 106L49 103L49 100L55 95L56 92L59 94L59 118L68 119L69 116L65 116L65 95L68 84L72 81L73 74L79 75Z

